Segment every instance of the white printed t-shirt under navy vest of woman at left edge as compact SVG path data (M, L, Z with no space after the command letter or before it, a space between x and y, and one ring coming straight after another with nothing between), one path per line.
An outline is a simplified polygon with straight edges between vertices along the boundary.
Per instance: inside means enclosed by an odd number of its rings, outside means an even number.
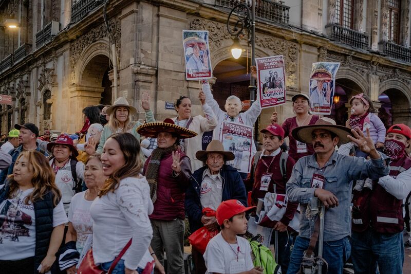
M34 188L19 191L0 205L0 260L22 260L34 256L34 206L24 204ZM53 209L53 227L67 223L63 203Z

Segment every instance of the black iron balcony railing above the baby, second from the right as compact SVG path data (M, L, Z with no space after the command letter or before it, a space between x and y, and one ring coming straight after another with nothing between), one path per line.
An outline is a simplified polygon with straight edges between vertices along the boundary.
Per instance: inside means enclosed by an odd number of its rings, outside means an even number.
M326 26L331 39L356 48L368 49L368 35L356 30L344 28L338 24Z

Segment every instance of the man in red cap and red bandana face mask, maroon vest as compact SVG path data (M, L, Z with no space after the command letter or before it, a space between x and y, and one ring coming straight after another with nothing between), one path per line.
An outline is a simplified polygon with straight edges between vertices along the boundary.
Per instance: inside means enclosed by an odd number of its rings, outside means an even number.
M404 263L403 200L411 191L411 159L405 149L411 129L395 124L387 131L384 153L391 158L389 175L374 180L372 190L354 191L352 263L356 273L402 273Z

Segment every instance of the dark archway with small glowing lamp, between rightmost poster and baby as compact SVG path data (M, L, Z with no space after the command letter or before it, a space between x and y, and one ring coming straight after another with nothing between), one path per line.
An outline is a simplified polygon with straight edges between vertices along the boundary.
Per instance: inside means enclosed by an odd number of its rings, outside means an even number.
M353 95L363 93L364 90L354 81L346 78L335 81L334 101L331 114L327 117L334 119L339 125L345 125L349 117L349 100Z

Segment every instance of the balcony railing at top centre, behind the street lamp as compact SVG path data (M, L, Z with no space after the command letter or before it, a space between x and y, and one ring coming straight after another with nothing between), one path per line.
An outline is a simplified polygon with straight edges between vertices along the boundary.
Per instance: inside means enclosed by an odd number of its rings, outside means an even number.
M245 0L215 0L216 6L225 8L234 8L240 3L246 3ZM250 5L249 5L250 6ZM251 9L251 6L250 6ZM276 3L270 0L256 0L255 16L274 23L288 24L290 7Z

